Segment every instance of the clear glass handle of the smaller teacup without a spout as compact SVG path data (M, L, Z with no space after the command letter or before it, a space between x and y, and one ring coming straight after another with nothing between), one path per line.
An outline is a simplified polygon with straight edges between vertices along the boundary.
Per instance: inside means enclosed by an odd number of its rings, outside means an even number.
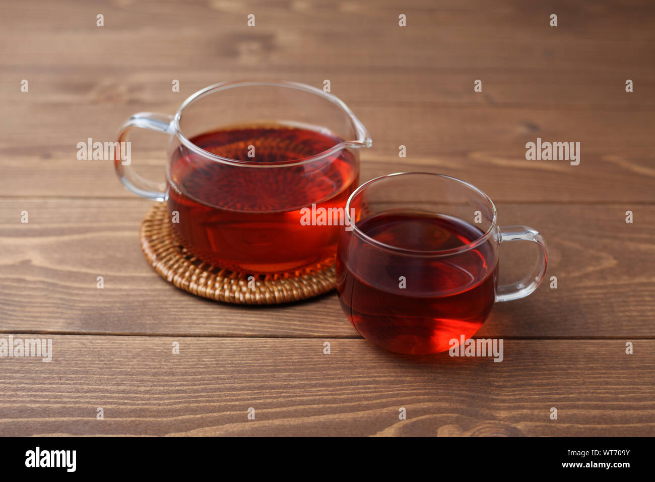
M504 226L500 228L500 242L503 241L533 241L537 243L541 258L537 262L536 269L533 273L527 275L517 283L502 285L496 289L496 301L512 301L519 298L525 298L531 294L541 284L546 274L546 265L548 264L548 251L546 242L538 231L528 226Z

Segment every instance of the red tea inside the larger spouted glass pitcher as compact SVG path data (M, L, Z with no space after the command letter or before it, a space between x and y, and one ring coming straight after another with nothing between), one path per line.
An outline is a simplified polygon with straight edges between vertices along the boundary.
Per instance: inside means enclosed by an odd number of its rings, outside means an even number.
M185 146L172 154L168 211L185 247L198 258L236 271L297 270L334 256L339 226L303 226L304 207L345 208L357 185L358 159L342 149L301 159L342 142L326 131L284 125L225 129L195 136L205 151L248 165L206 159Z

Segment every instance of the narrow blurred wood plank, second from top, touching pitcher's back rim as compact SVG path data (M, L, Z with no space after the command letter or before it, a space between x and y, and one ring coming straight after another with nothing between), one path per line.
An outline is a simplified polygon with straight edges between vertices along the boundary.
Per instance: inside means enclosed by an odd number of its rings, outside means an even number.
M633 92L625 91L621 71L599 75L597 71L565 69L507 70L496 68L411 68L407 71L372 66L367 71L343 71L315 66L269 66L267 75L288 79L319 89L329 79L331 93L351 106L389 104L429 104L433 107L493 105L495 108L533 107L569 110L652 111L652 67L630 66ZM634 72L634 70L637 72ZM39 66L10 68L0 72L0 100L8 111L19 112L28 104L52 108L67 106L83 115L82 107L98 104L141 106L143 110L173 111L179 104L208 85L220 81L261 77L261 68L231 65L220 73L194 67L179 71L170 68L145 68L111 71L97 76L96 68L71 65L66 70L43 70ZM626 68L622 68L626 70ZM20 92L17 75L28 78L30 90ZM409 75L408 75L409 74ZM634 77L634 78L632 78ZM179 92L172 92L172 79L179 80ZM483 91L474 92L474 81L483 81Z

